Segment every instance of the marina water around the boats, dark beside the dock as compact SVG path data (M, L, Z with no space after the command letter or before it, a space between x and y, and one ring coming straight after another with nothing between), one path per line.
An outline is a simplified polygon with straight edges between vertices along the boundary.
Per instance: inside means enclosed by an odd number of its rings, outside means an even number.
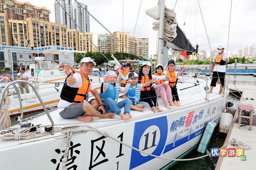
M231 78L231 79L230 79ZM228 79L228 83L229 85L232 85L233 83L235 85L253 85L255 86L256 89L256 77L253 76L244 76L244 75L230 75L230 78ZM232 83L233 81L233 83ZM239 103L240 98L237 97L236 95L229 93L229 97L228 97L229 101L232 101L236 106ZM256 98L255 98L256 100ZM41 111L43 112L43 111ZM35 113L31 113L31 114L26 114L24 115L24 117L28 117L31 115L36 115L39 114L41 112L35 112ZM11 117L11 123L12 126L15 124L18 124L19 122L15 120L15 116ZM218 132L218 128L214 130L211 141L208 145L208 149L209 148L215 148L215 147L221 147L224 144L224 141L226 139L227 134L224 133L219 133ZM196 157L200 157L203 154L199 153L196 151L197 148L192 151L191 153L189 153L185 158L183 159L189 159L189 158L196 158ZM175 164L171 169L172 170L193 170L193 169L200 169L200 170L214 170L216 163L217 163L218 157L205 157L203 159L198 159L198 160L192 160L192 161L182 161L182 162L178 162L177 164Z

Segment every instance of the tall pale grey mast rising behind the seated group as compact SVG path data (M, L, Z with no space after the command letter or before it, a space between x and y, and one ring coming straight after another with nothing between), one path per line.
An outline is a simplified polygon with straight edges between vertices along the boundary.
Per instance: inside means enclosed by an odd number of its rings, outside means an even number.
M158 33L158 49L157 49L157 64L164 64L164 8L165 0L159 0L159 33Z

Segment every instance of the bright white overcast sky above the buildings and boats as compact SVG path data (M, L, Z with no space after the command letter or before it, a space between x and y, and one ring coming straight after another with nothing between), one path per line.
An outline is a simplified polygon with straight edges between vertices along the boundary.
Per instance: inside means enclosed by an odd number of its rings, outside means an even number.
M28 1L39 7L45 6L52 11L50 21L55 22L54 0L19 1ZM72 2L75 1L72 0ZM89 12L110 32L129 32L130 36L133 36L140 0L78 0L78 2L88 5ZM142 0L134 34L136 37L149 39L149 56L156 54L157 31L152 29L152 23L156 20L147 16L145 11L156 6L157 2L157 0ZM173 9L175 2L176 0L166 0L165 5L167 8ZM231 0L201 0L199 2L212 49L216 49L219 45L227 47ZM174 12L176 12L178 24L185 30L187 38L194 46L198 44L199 50L206 50L209 57L210 47L197 1L178 0ZM184 22L185 26L183 26ZM92 17L90 17L90 31L93 33L95 44L97 44L97 34L108 33ZM228 53L236 53L237 49L253 43L256 43L256 1L233 0Z

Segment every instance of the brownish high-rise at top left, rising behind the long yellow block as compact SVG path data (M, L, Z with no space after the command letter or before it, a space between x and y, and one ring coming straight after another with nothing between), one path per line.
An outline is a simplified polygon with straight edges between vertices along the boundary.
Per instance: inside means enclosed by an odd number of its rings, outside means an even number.
M49 21L49 14L51 13L45 7L37 7L29 2L20 2L16 0L1 0L0 12L7 15L7 19L25 20L33 17L41 20Z

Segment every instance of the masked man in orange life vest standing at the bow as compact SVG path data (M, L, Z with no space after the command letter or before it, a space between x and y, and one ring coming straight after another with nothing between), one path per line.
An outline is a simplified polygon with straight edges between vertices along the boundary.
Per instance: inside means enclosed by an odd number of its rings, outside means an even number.
M225 74L226 74L226 65L229 63L228 55L227 53L224 53L224 46L219 46L217 48L218 54L215 54L212 61L212 69L210 72L212 73L212 82L211 82L211 88L208 93L212 93L213 87L216 87L216 82L218 81L218 78L220 79L220 91L219 94L221 94L221 91L224 86L224 80L225 80Z

